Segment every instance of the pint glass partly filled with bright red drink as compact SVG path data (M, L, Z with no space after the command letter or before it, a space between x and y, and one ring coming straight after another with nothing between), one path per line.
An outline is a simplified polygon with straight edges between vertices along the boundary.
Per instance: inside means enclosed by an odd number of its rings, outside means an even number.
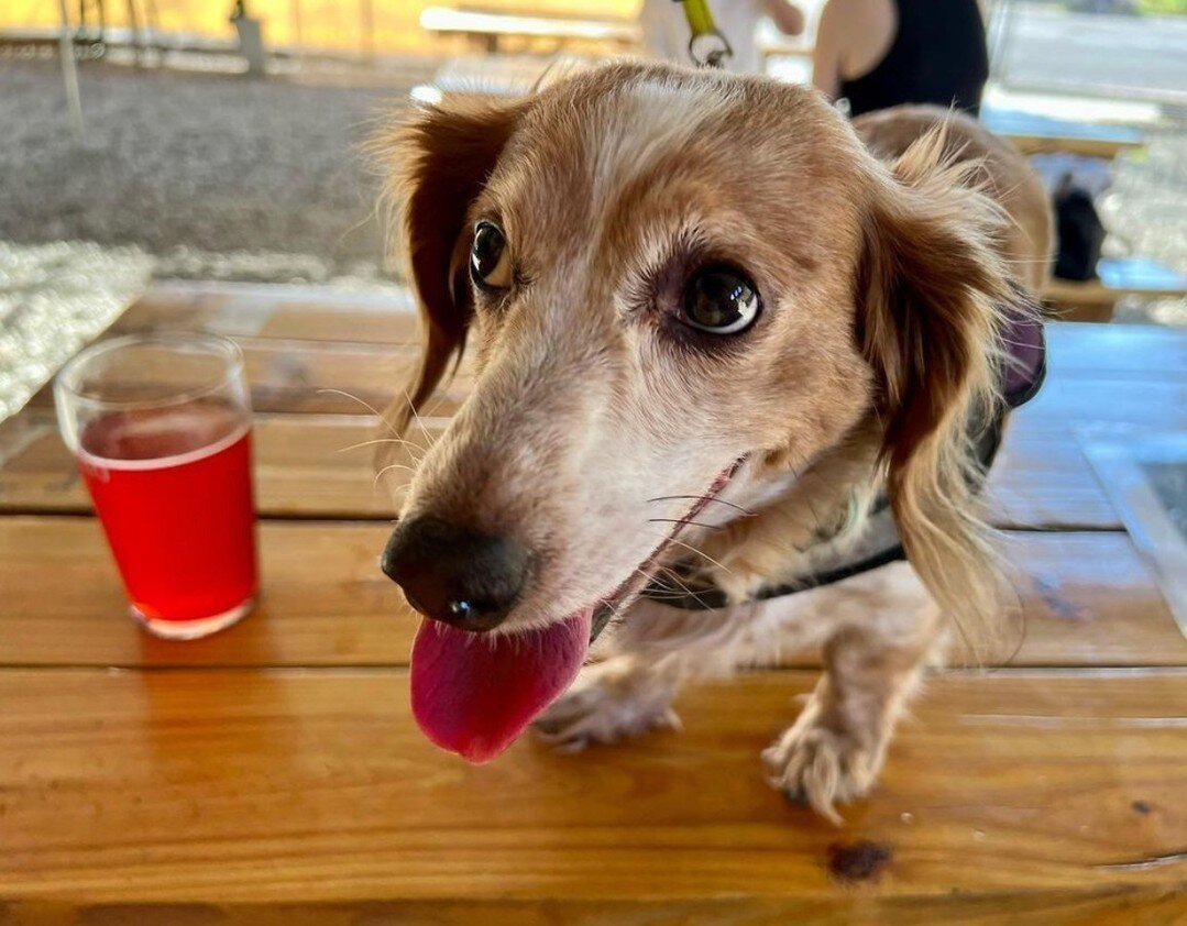
M259 577L239 349L205 335L102 342L56 398L133 615L192 639L247 614Z

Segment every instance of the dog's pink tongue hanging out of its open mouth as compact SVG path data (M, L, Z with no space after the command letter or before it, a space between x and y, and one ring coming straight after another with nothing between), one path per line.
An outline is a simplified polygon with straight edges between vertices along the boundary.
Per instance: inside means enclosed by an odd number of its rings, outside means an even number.
M471 634L424 620L412 645L412 713L425 736L489 762L577 677L592 609L521 634Z

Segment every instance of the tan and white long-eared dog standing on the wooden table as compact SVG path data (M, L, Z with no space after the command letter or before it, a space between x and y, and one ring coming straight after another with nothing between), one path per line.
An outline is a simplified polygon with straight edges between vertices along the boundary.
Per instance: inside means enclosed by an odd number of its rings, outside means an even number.
M381 557L424 615L421 729L476 762L533 721L612 742L674 725L691 679L820 645L763 760L838 819L946 628L1002 624L976 445L1049 265L1039 179L941 110L851 125L807 88L642 63L429 107L383 148L425 328L400 427L463 351L475 378ZM881 510L909 566L748 604Z

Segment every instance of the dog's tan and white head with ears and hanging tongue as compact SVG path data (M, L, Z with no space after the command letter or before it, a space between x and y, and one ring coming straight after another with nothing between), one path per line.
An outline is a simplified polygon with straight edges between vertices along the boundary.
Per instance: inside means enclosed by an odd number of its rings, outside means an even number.
M424 110L394 161L427 334L411 405L463 349L474 374L383 558L430 619L436 742L497 754L705 499L870 416L909 552L941 573L967 552L948 502L1005 284L994 208L938 141L895 176L812 90L620 65Z

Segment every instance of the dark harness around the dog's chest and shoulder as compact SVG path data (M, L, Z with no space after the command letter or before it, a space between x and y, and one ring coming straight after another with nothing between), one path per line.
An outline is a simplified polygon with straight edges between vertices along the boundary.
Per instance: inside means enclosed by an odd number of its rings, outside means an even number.
M999 373L1002 402L995 410L992 420L985 425L978 423L973 435L983 472L989 471L997 455L1010 411L1033 399L1047 374L1047 351L1040 321L1011 310L1003 338L1007 357ZM813 571L787 584L763 589L751 601L767 601L831 585L888 563L906 559L907 554L891 518L890 502L884 493L874 502L869 521L863 537L844 554L825 557ZM642 595L681 610L713 610L731 604L725 592L716 585L693 588L686 582L675 579L655 578L643 589Z

